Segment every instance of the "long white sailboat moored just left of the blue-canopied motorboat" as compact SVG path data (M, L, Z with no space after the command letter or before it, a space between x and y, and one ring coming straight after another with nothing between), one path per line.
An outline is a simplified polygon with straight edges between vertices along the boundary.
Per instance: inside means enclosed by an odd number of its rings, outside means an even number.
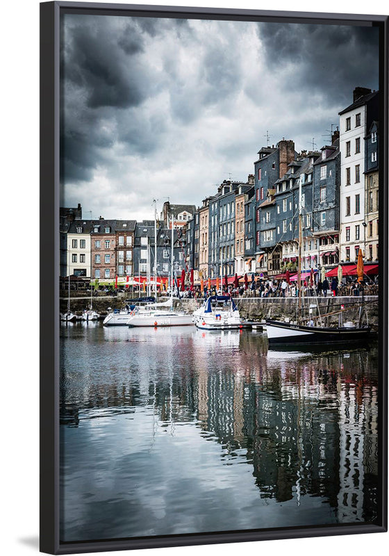
M156 218L156 215L155 215ZM138 311L136 308L131 313L127 320L129 327L165 327L165 326L188 326L193 324L192 315L183 313L181 311L173 310L173 247L174 247L174 227L172 218L172 261L171 261L171 287L170 299L167 302L150 304L149 311ZM156 279L156 257L157 257L157 235L155 227L155 255L154 255L154 284L155 296L157 297L157 279ZM169 307L167 310L160 309L160 307Z

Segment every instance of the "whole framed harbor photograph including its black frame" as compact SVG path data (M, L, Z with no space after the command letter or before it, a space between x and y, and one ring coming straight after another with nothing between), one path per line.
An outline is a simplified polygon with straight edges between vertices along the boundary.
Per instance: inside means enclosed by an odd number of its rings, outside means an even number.
M40 15L40 550L385 532L388 17Z

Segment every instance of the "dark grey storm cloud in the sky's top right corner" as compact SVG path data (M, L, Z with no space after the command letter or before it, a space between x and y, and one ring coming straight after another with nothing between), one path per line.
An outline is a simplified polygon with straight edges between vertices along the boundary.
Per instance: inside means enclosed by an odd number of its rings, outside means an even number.
M258 24L258 35L270 70L282 75L292 64L284 88L320 91L340 106L351 104L357 85L378 88L377 28L268 23Z

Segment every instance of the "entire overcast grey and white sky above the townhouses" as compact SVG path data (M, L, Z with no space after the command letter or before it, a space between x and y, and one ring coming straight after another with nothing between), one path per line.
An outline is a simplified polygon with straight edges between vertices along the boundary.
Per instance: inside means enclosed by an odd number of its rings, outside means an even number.
M62 52L61 205L85 218L198 206L267 131L320 149L354 87L378 89L366 27L65 15Z

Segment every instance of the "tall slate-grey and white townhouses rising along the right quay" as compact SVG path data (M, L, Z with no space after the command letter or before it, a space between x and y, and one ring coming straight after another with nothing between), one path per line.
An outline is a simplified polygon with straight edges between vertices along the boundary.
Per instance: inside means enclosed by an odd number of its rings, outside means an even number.
M295 270L299 188L305 270L378 261L379 93L354 90L340 126L319 150L292 140L262 147L247 182L227 181L203 200L185 227L186 261L198 279Z

